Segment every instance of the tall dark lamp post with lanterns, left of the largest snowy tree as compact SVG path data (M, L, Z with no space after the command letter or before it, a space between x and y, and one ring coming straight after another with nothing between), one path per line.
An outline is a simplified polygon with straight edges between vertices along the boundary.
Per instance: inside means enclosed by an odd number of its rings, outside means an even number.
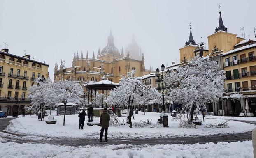
M165 114L165 99L164 99L164 87L163 87L163 71L164 70L165 70L165 66L164 66L164 64L162 64L161 65L161 71L162 71L161 81L162 81L162 98L163 98L163 102L162 102L162 108L161 108L162 112L160 114L160 123L163 123L163 127L169 127L168 126L168 115ZM159 79L160 71L159 71L158 68L156 69L156 76Z

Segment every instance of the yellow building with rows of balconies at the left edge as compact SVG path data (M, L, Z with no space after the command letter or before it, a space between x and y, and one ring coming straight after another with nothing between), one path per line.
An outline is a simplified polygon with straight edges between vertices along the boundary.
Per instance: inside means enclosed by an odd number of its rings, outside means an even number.
M48 78L48 64L9 53L9 49L0 50L0 110L12 114L21 112L30 105L28 88L35 84L37 77Z

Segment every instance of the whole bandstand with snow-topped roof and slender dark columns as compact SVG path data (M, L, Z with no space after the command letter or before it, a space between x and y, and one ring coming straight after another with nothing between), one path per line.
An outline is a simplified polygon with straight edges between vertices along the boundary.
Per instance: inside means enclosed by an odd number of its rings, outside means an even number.
M116 88L116 86L119 86L118 83L111 82L109 80L101 80L99 82L93 82L93 83L88 83L84 87L88 89L88 104L89 104L89 97L90 97L90 92L91 92L91 102L92 102L92 95L93 95L93 90L95 91L95 96L96 96L96 91L97 90L102 90L102 108L103 108L103 102L104 102L104 90L112 90ZM106 92L107 93L107 92ZM106 95L107 99L107 95ZM94 106L96 106L96 99Z

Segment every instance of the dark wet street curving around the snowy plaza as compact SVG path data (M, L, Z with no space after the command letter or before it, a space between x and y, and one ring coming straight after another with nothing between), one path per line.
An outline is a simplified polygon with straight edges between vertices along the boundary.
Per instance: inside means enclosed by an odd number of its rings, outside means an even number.
M28 139L26 135L20 135L16 133L9 133L3 131L6 126L8 126L9 121L12 118L0 119L1 128L0 131L3 133L9 134L1 136L7 142L17 142L17 143L46 143L46 144L55 144L55 145L67 145L67 146L84 146L84 145L111 145L111 144L195 144L200 143L204 144L207 142L237 142L251 140L251 132L247 133L238 133L238 134L226 134L226 135L210 135L210 136L198 136L198 137L169 137L169 138L152 138L152 139L112 139L109 142L100 142L98 139L64 139L64 138L54 138L54 137L39 137L41 139ZM240 121L240 120L235 120ZM250 124L256 124L256 122L251 121L242 121ZM171 130L171 129L170 129Z

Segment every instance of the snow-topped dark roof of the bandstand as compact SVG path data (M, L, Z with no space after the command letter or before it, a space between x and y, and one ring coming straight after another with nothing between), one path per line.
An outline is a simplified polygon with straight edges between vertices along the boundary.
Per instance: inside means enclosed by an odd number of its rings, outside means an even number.
M119 86L118 83L111 82L109 80L101 80L95 83L88 83L84 87L89 89L96 89L96 90L111 90Z

